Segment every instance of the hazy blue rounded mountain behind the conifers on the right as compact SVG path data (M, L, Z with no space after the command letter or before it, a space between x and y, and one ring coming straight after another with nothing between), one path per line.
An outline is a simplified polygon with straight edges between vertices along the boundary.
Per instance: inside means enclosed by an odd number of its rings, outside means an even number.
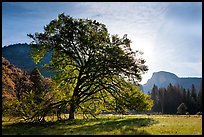
M166 88L169 83L172 85L179 84L185 89L191 89L192 84L194 84L196 91L198 92L201 85L202 78L198 77L182 77L179 78L173 73L166 71L154 72L152 77L147 81L147 83L142 85L142 90L145 93L148 93L152 90L153 85L155 84L158 88Z

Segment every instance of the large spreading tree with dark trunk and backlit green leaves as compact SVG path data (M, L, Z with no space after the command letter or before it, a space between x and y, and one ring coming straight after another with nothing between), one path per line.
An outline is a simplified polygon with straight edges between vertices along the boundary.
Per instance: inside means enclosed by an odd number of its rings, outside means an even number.
M124 99L127 96L125 89L131 90L126 85L137 86L141 75L148 70L140 56L142 53L131 49L127 35L122 38L110 35L106 26L95 20L60 14L44 27L43 33L28 36L33 39L35 62L40 62L46 52L52 52L47 67L54 70L53 79L58 87L66 88L67 94L71 95L67 100L70 119L74 118L80 104L98 98L102 100L106 94L106 99ZM148 101L141 100L140 103L148 104Z

